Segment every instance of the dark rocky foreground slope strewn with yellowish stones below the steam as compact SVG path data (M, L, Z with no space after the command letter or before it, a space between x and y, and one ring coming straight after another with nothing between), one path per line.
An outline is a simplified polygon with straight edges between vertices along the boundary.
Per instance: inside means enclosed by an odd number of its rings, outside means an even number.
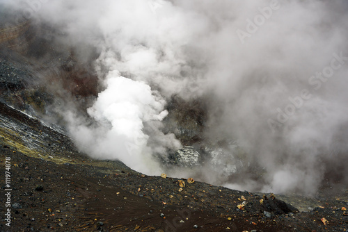
M179 179L145 176L118 161L91 160L67 136L4 104L0 115L2 194L6 157L12 188L11 227L4 220L6 198L0 198L1 231L348 230L345 201L322 201L322 208L297 213L273 194L186 179L181 190ZM39 145L26 147L33 141L22 133L38 133Z

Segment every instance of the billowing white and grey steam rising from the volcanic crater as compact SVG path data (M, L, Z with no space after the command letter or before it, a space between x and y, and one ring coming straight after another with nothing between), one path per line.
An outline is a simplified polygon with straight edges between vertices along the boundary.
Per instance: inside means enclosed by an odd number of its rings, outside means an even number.
M180 147L161 132L166 101L177 94L205 99L205 138L237 141L244 169L262 170L261 187L248 175L223 184L310 194L324 179L347 183L346 1L28 0L23 6L33 19L58 27L57 39L74 44L81 58L86 44L100 52L94 65L104 88L88 108L93 121L65 114L92 156L161 172L157 158ZM209 169L201 179L220 178Z

